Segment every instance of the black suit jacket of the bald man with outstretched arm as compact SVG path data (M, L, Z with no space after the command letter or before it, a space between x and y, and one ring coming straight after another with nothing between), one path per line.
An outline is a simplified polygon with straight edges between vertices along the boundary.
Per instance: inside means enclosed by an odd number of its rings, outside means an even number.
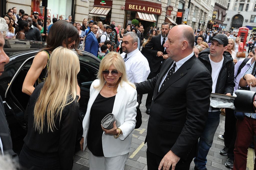
M186 161L188 156L195 157L198 139L205 128L212 78L194 55L158 92L159 84L172 63L171 58L166 59L156 77L138 83L136 87L138 94L154 89L146 137L148 150L160 157L172 150Z

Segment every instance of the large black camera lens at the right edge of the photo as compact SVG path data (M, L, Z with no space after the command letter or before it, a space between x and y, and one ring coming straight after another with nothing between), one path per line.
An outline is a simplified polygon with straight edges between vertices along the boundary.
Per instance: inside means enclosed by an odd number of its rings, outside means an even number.
M255 113L253 102L256 101L256 92L248 90L236 90L234 99L236 112Z

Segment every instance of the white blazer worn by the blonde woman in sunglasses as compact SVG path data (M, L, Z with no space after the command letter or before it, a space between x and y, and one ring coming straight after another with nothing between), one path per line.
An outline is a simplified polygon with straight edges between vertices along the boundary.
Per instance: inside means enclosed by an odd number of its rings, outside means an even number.
M96 90L93 88L93 86L98 86L99 83L100 80L94 80L90 88L90 99L83 119L83 150L85 150L87 146L87 134L89 129L91 107L100 92L100 90ZM120 121L121 125L118 128L122 130L123 134L120 135L118 139L115 139L113 135L105 134L105 132L103 132L102 148L105 157L114 157L129 153L132 142L132 131L134 130L136 123L135 118L137 105L136 89L132 88L126 82L123 82L122 84L119 83L112 113Z

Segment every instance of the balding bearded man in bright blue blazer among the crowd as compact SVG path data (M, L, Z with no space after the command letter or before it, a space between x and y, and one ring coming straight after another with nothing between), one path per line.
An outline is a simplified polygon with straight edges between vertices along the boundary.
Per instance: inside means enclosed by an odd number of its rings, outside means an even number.
M96 33L98 31L98 26L93 25L91 27L91 30L88 32L86 39L85 39L85 48L84 51L90 52L94 56L98 56L98 49L99 49L99 44L98 40L96 38Z

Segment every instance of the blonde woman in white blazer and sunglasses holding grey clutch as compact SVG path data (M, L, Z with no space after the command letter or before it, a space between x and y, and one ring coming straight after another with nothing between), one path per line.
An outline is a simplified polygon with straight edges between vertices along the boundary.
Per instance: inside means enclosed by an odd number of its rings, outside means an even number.
M90 88L90 99L83 119L81 150L89 149L90 169L124 169L135 128L137 92L128 81L123 58L110 52L100 63L98 79ZM113 113L120 126L106 130L105 115Z

